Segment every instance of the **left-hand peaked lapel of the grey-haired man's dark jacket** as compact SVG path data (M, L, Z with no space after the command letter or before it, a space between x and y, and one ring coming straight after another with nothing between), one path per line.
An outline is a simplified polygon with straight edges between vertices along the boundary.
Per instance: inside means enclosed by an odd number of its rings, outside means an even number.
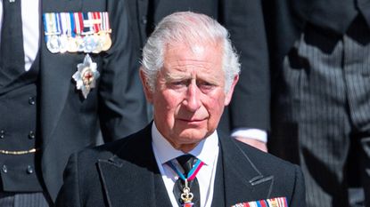
M116 155L99 161L98 169L109 206L171 206L152 153L151 126L149 124L128 140ZM141 150L135 151L138 148Z

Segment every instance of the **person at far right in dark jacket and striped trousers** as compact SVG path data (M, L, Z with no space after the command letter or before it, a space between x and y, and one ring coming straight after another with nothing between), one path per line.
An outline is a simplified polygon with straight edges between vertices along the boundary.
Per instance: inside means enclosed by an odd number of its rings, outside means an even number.
M370 206L366 2L264 1L273 89L268 151L300 164L308 206L350 206L353 179Z

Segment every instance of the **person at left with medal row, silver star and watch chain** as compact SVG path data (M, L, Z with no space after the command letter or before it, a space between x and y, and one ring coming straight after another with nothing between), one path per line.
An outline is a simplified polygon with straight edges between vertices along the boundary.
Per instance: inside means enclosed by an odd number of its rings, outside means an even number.
M145 124L127 4L2 0L0 25L0 206L53 206L72 152Z

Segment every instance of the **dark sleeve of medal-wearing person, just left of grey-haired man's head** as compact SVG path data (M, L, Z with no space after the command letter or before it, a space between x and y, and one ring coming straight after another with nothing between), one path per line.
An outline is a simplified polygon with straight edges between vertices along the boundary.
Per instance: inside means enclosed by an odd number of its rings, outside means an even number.
M103 58L99 86L99 117L104 141L119 139L143 128L146 107L138 68L130 66L132 45L127 2L107 1L111 49Z

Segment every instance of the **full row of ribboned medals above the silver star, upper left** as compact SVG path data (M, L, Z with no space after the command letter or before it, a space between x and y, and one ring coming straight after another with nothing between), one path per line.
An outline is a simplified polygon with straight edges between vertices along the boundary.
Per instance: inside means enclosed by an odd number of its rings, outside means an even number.
M50 52L99 53L111 48L108 12L46 12L43 21Z

